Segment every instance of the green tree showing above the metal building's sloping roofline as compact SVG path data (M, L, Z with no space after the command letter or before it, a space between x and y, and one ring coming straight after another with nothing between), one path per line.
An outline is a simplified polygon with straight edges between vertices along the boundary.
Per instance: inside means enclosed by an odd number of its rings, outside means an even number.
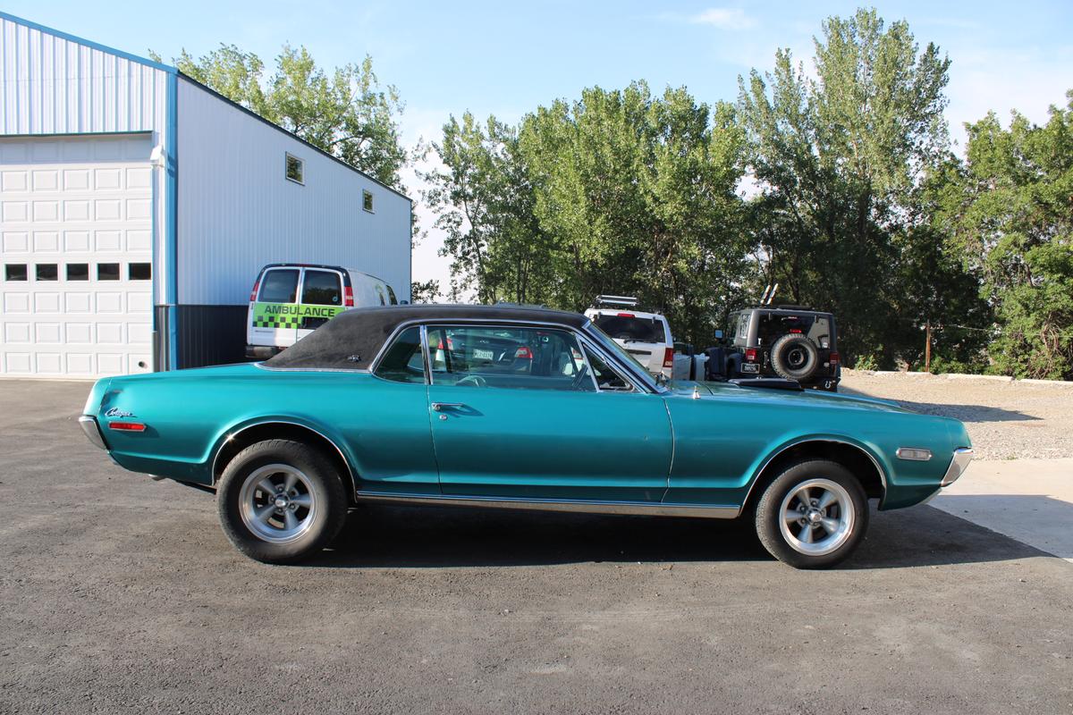
M399 138L403 104L394 86L381 86L368 56L325 72L305 47L284 45L276 71L235 45L174 60L180 72L265 119L355 166L379 181L401 187L408 154Z

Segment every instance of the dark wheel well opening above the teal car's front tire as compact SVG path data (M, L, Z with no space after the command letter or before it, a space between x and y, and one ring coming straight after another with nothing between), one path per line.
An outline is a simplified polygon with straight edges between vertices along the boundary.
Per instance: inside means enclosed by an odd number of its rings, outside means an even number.
M886 473L868 450L851 442L831 437L804 440L788 445L768 457L753 479L743 512L755 507L764 490L790 465L808 460L829 460L841 464L861 482L868 498L882 504L886 496Z

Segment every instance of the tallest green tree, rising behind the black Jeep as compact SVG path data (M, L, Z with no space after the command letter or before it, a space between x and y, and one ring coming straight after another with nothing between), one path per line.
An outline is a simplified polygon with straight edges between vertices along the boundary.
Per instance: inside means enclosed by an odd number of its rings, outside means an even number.
M916 324L949 317L930 315L942 300L907 288L936 283L938 239L917 229L916 209L927 172L947 155L950 61L874 10L826 20L814 45L812 76L783 49L774 72L740 80L760 189L753 225L780 294L833 310L851 360L879 353L891 363L923 344Z

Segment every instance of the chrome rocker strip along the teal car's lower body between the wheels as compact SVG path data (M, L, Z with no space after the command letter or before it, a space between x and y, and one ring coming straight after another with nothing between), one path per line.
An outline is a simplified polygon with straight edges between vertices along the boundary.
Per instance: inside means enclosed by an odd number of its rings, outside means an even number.
M584 513L647 515L662 517L700 517L704 519L734 519L739 509L729 505L697 505L663 502L628 502L601 500L531 498L498 496L464 496L439 494L399 494L357 490L358 502L377 502L397 505L480 506L499 509L530 509L539 511L576 511Z

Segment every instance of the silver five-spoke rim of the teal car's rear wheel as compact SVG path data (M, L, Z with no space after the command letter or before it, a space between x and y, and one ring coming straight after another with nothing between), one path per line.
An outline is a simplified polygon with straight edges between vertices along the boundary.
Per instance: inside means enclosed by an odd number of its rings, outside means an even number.
M258 538L289 543L313 525L313 483L290 464L266 464L251 472L238 494L242 523Z

